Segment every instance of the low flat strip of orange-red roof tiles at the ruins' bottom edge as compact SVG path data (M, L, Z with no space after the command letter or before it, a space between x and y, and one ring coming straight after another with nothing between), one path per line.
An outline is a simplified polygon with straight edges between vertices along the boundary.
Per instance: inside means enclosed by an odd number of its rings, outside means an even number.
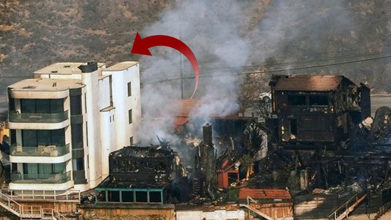
M239 199L246 199L250 196L253 199L291 199L291 194L285 189L249 189L239 190Z

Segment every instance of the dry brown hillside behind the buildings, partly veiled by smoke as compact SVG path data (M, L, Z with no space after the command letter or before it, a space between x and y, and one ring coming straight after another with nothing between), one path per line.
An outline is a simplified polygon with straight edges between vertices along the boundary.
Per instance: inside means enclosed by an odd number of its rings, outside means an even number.
M178 97L181 56L161 47L151 50L153 57L130 54L136 32L188 43L204 76L201 88L217 86L219 94L238 91L236 73L264 69L263 85L271 73L332 73L368 81L376 92L391 91L390 58L378 59L390 56L390 0L289 2L2 0L0 93L54 62L141 59L143 83L175 79L170 91ZM183 65L191 93L193 73Z

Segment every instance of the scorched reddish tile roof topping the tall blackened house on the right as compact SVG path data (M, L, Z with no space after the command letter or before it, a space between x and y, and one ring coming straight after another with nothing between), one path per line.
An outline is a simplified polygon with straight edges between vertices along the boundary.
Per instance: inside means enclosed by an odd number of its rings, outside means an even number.
M280 91L333 91L344 76L337 75L290 75L277 78L274 86ZM353 82L352 82L353 83Z

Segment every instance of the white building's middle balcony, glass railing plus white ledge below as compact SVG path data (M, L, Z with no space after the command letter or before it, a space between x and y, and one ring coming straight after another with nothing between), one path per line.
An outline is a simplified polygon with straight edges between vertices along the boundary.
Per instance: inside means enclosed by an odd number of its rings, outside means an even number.
M65 146L38 146L23 147L12 145L10 147L10 161L13 163L61 163L69 160L69 144Z

